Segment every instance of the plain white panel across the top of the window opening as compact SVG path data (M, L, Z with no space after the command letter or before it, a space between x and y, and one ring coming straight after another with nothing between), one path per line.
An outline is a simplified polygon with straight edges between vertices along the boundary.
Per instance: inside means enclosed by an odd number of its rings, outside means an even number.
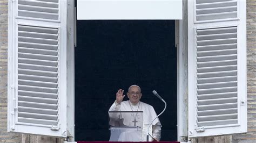
M181 19L179 0L78 0L77 19Z

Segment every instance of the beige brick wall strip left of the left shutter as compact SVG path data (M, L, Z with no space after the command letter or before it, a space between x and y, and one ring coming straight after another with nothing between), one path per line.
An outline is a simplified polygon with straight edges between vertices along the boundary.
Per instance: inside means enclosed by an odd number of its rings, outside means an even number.
M7 132L8 0L0 0L0 142L21 142L21 134Z

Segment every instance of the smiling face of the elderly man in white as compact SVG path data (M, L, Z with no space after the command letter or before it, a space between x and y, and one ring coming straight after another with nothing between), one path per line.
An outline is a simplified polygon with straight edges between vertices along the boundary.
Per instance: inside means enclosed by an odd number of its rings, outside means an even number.
M139 102L139 99L142 97L142 93L140 93L138 87L134 86L130 88L129 92L127 92L127 96L130 99L131 103L137 104Z

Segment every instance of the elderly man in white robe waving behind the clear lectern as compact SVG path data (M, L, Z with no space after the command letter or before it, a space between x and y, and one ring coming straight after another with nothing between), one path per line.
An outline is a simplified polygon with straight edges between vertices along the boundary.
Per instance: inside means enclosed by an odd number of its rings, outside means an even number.
M122 120L124 126L142 125L142 132L135 130L127 130L117 135L111 134L110 141L146 141L147 128L151 121L157 117L153 106L140 102L142 97L141 89L138 85L131 85L127 92L129 101L123 101L125 95L124 90L119 89L116 94L116 101L112 104L109 111L137 111L135 113L109 113L110 125L116 126L117 120ZM143 111L143 114L142 112ZM143 116L143 117L140 117ZM140 121L143 119L143 123ZM149 133L152 135L154 141L159 141L161 138L161 124L159 119L155 119L152 126L149 127Z

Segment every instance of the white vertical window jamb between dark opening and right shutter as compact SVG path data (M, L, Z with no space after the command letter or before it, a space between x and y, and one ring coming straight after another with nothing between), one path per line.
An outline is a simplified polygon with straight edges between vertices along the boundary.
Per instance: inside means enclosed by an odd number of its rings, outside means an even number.
M183 1L183 19L179 20L178 46L177 46L177 116L178 116L178 141L187 141L187 1Z

